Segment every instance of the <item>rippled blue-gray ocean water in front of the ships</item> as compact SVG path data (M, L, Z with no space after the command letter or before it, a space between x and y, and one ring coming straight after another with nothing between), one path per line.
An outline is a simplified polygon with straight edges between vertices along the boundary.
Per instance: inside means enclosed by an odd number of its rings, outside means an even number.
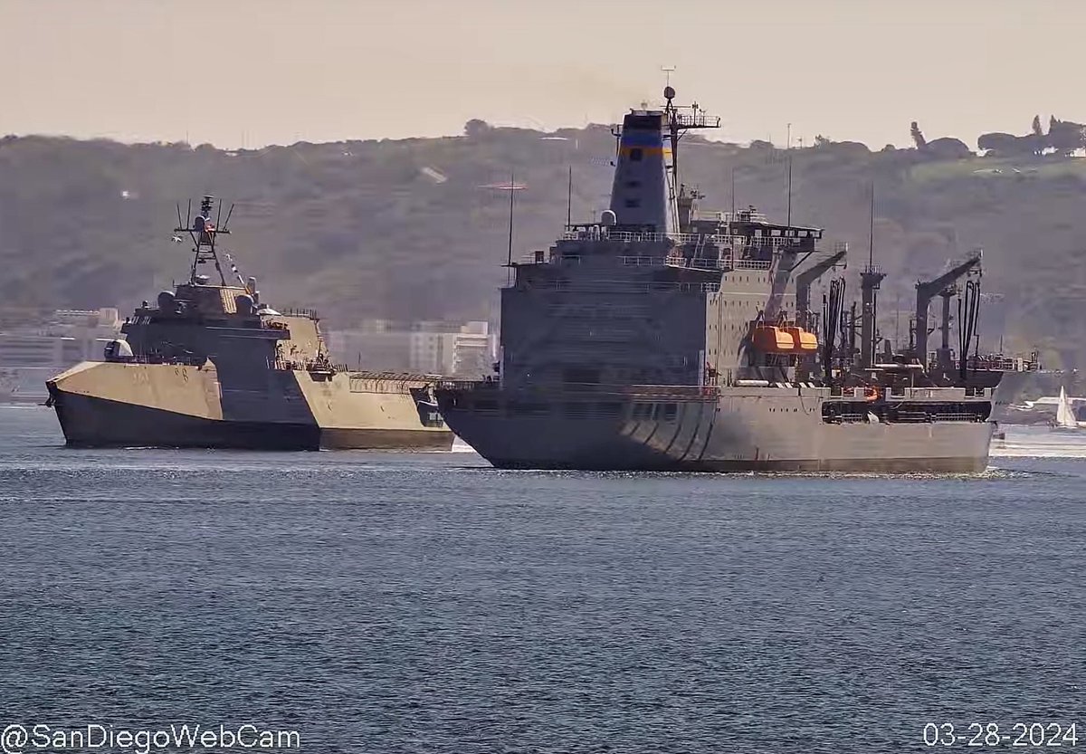
M1076 722L1086 749L1086 439L995 451L973 478L498 472L68 450L0 409L0 727L689 754Z

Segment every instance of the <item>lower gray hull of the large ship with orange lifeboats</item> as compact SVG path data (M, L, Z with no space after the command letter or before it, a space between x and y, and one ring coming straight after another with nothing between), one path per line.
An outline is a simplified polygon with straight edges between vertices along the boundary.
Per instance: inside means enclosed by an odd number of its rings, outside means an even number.
M831 424L821 399L794 391L679 402L670 420L634 418L629 406L617 417L517 417L465 410L447 391L438 400L453 430L498 468L976 474L987 467L994 427Z

